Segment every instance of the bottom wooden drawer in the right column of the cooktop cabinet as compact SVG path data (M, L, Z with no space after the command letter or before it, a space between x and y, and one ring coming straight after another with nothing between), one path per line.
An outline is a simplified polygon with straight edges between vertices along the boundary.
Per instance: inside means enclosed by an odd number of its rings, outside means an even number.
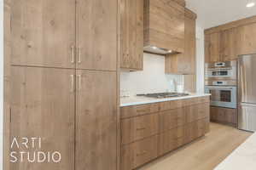
M190 122L185 126L185 142L189 143L192 140L203 136L207 132L209 132L209 118Z

